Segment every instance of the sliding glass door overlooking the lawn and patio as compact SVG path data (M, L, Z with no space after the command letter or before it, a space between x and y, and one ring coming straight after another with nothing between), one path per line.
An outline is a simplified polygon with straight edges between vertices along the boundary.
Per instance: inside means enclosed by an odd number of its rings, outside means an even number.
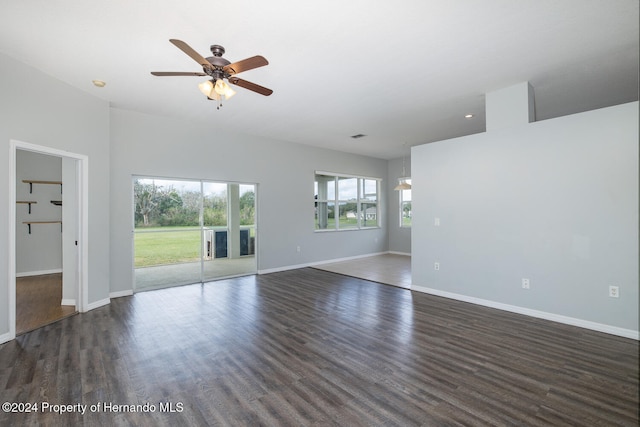
M256 186L135 177L137 291L255 274Z

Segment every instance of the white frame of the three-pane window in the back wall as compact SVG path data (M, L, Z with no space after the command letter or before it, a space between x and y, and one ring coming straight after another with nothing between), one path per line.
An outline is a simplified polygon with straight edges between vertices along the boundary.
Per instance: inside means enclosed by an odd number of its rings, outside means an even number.
M328 180L328 182L332 182L333 190L330 191L327 188L327 198L319 197L319 185L318 185L318 176L326 176L333 178L332 180ZM340 180L341 179L356 179L356 197L355 199L345 199L341 198L340 194ZM367 183L365 181L374 181L375 182L375 199L372 200L370 195L372 193L363 194L367 189ZM325 172L325 171L315 171L314 174L314 202L315 202L315 210L314 210L314 232L326 233L326 232L334 232L334 231L355 231L355 230L371 230L371 229L379 229L381 228L381 218L380 218L380 194L382 189L382 178L375 178L370 176L361 176L361 175L351 175L344 173L336 173L336 172ZM333 198L328 198L328 196L332 194ZM344 194L344 192L343 192ZM369 197L368 197L369 196ZM343 196L344 197L344 196ZM327 209L326 212L326 226L325 228L319 228L320 218L319 218L319 207L320 204L325 204ZM340 207L345 204L353 204L356 205L356 223L355 225L344 224L341 227L340 221ZM375 220L367 219L367 211L371 209L371 205L375 205ZM333 206L333 224L329 223L329 207ZM338 217L336 218L336 214ZM374 221L374 225L369 225L369 222Z

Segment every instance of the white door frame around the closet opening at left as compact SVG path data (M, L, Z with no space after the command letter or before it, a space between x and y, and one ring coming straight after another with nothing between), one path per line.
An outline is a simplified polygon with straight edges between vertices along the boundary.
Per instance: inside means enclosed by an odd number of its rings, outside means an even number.
M16 152L17 150L69 158L76 161L76 194L78 255L76 262L77 292L76 310L84 313L89 306L89 158L84 154L76 154L24 141L9 141L9 340L16 337ZM64 183L63 183L64 186ZM63 271L63 274L65 272Z

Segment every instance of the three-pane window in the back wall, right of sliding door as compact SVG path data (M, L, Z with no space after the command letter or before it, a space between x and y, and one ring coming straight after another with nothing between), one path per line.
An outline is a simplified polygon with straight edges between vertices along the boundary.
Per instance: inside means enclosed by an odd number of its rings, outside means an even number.
M316 231L379 227L379 189L376 178L316 172Z

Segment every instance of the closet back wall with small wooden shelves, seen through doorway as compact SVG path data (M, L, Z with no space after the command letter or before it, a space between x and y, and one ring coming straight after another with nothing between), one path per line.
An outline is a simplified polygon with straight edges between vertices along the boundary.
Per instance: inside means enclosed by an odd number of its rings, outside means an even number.
M62 181L62 159L31 151L16 151L16 274L20 276L62 271L60 224L33 224L31 234L24 221L60 221L62 209L51 200L62 200L60 185L33 184L22 180Z

